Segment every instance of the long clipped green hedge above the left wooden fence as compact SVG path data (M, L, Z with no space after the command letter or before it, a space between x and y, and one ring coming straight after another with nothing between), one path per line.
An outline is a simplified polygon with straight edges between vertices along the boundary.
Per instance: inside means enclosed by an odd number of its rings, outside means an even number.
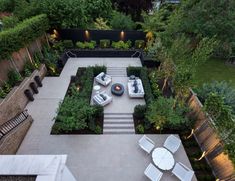
M0 32L0 60L40 37L49 28L47 16L42 14L26 19L14 28Z

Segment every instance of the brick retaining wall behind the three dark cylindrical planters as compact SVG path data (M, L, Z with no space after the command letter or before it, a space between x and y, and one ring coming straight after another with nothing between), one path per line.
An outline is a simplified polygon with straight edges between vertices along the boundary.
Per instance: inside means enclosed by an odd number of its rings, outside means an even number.
M45 65L41 65L39 70L35 70L30 77L26 77L19 86L15 86L5 99L0 99L0 125L22 112L28 103L28 98L24 91L29 88L29 84L34 81L34 77L39 75L41 80L46 75ZM31 90L31 89L30 89Z

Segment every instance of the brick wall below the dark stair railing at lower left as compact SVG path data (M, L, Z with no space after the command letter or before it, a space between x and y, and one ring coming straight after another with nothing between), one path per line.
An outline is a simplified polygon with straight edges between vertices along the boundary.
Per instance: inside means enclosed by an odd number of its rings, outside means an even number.
M3 136L0 140L0 154L15 154L32 122L32 117L28 116L20 125Z

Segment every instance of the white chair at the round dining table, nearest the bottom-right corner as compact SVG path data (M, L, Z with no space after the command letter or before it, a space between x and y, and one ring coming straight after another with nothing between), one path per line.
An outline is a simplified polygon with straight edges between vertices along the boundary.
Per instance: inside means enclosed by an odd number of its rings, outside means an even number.
M180 162L175 164L172 173L181 181L191 181L194 175L194 171L192 171Z

